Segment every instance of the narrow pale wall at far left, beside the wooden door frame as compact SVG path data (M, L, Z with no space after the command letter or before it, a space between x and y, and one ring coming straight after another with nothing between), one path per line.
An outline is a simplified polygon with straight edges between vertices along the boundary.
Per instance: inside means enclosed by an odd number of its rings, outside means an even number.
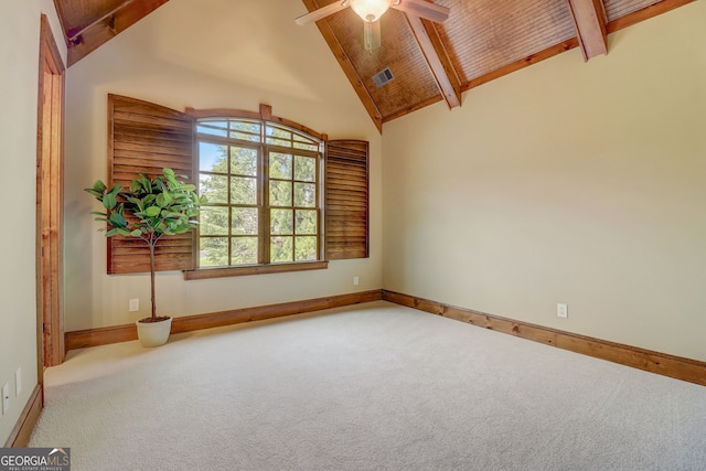
M51 0L0 2L0 387L10 386L10 408L0 416L0 446L36 386L35 179L40 18L45 13L63 57L62 30ZM15 395L14 373L22 368Z

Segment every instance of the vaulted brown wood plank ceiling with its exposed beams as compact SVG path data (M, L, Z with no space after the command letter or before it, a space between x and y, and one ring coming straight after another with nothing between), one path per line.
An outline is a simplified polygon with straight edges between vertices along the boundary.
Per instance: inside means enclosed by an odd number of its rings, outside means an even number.
M54 0L68 65L167 1ZM303 14L342 0L301 1ZM463 92L570 49L581 47L585 61L607 54L607 34L691 1L435 0L451 10L446 22L389 10L373 52L365 51L362 20L350 8L317 26L382 131L384 122L440 100L460 106ZM378 87L373 76L385 68L394 78Z

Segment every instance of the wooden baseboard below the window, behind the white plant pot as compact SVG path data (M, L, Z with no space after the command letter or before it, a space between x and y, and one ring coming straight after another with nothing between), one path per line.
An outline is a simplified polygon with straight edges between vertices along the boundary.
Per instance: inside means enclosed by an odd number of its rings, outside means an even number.
M202 329L220 328L244 322L261 321L285 315L301 314L323 309L340 308L359 304L361 302L378 301L383 299L382 290L354 292L351 295L331 296L306 301L284 302L280 304L261 306L257 308L236 309L231 311L211 312L206 314L174 318L171 333L192 332ZM107 345L109 343L137 340L135 324L115 325L109 328L86 329L65 333L66 351L87 346Z

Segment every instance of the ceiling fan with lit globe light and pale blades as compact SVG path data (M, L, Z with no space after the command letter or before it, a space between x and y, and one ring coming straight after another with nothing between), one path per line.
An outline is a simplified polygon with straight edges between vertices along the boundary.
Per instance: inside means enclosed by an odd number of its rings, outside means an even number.
M366 51L379 47L379 18L389 9L414 14L436 23L442 23L449 18L451 11L447 7L429 3L425 0L336 0L331 4L322 7L310 13L297 18L299 25L319 21L330 14L351 7L351 9L363 19L364 44Z

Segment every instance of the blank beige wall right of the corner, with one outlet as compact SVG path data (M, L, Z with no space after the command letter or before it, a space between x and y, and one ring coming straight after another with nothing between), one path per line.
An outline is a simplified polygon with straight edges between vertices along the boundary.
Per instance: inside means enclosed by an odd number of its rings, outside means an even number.
M385 125L384 287L706 361L705 24L694 2Z

